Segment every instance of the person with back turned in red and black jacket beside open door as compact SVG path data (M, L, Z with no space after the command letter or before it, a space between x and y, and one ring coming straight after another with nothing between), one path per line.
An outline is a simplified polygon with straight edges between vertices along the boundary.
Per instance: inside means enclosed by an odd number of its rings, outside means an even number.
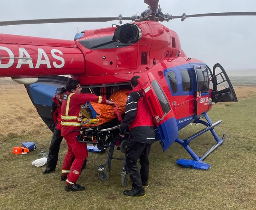
M150 108L143 97L142 88L134 76L131 80L132 91L128 95L124 120L119 127L119 135L124 137L126 130L130 131L126 148L126 171L132 182L131 190L124 190L125 196L146 196L144 187L148 187L148 172L151 145L155 139L155 124ZM140 169L137 166L140 159Z

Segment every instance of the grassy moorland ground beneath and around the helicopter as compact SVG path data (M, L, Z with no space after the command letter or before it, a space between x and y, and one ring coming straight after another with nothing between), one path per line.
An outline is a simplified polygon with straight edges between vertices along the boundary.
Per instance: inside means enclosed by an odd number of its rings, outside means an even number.
M238 83L235 82L238 81ZM1 210L255 210L256 209L256 84L233 78L238 102L215 104L209 112L212 122L222 120L215 128L226 139L222 146L204 162L208 170L194 170L176 164L179 158L189 158L177 143L162 152L159 142L150 153L150 187L145 198L122 195L122 161L112 160L109 180L98 178L98 165L106 162L108 151L89 153L88 164L78 183L86 186L82 192L65 192L60 181L61 165L66 154L63 141L56 172L42 174L31 162L48 152L51 132L46 128L24 86L0 78L0 209ZM243 78L244 80L244 78ZM234 84L236 83L236 84ZM247 84L247 86L244 86ZM187 126L180 131L184 139L202 129ZM37 149L24 155L12 153L14 146L32 141ZM190 144L200 156L215 144L210 132ZM115 157L124 154L115 149Z

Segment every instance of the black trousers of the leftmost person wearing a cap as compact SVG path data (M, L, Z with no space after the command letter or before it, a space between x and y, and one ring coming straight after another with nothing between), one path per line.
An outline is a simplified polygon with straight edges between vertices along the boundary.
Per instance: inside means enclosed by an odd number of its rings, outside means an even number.
M47 168L55 170L58 162L58 153L60 151L60 143L62 142L62 139L63 137L60 134L60 130L55 127L52 134L49 154L47 157Z

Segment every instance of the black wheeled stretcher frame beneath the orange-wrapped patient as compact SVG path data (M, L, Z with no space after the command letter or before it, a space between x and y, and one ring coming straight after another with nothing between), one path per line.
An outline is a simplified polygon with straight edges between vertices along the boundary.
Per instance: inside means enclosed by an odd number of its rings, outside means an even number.
M95 120L87 120L87 123L94 124ZM93 144L97 146L98 150L105 150L109 148L108 156L104 164L100 164L98 168L98 177L102 181L109 179L109 173L111 171L112 160L122 160L122 173L121 173L121 184L126 186L126 175L125 170L125 156L124 158L113 157L114 149L125 153L125 148L128 143L128 134L124 138L119 136L119 130L121 123L118 118L111 120L110 122L104 123L100 126L82 126L81 135L77 137L78 142L83 142L86 144ZM107 168L108 170L107 170Z

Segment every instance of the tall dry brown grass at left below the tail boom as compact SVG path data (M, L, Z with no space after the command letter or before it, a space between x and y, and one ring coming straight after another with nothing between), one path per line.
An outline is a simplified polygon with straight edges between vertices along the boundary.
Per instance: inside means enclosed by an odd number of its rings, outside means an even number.
M8 135L42 134L48 130L23 85L1 78L0 98L0 141Z

